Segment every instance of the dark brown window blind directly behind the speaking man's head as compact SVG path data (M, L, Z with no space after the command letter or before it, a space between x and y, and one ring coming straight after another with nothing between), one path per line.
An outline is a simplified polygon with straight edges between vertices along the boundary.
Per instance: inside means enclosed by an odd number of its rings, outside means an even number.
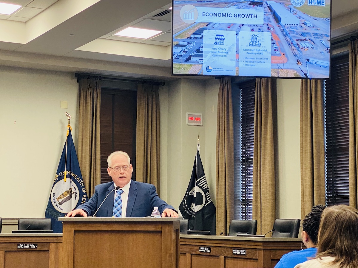
M129 154L135 180L137 91L101 90L101 183L111 182L107 158L114 151Z

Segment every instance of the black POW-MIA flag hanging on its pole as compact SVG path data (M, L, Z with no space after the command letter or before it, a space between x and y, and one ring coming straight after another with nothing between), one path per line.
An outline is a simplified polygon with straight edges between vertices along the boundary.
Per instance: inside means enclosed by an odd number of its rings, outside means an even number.
M179 210L183 218L189 220L190 230L210 230L211 234L216 234L216 208L210 197L199 146L195 155L192 177Z

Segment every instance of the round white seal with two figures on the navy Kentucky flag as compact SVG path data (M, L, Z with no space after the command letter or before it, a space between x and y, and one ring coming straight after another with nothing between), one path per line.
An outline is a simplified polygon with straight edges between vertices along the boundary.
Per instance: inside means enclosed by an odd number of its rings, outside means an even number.
M69 213L78 203L79 191L73 180L66 183L59 180L51 192L51 202L53 207L61 213Z

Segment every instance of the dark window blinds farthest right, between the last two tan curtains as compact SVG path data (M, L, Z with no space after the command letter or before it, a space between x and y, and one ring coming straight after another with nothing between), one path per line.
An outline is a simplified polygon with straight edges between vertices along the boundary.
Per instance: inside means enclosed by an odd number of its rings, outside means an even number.
M327 205L349 205L349 58L332 59L325 83L325 179Z

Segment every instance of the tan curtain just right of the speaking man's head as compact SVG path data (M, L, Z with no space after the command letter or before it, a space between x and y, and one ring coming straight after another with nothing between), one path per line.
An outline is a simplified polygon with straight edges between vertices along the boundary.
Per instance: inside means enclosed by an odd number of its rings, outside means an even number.
M138 84L136 180L151 183L160 195L159 86Z

